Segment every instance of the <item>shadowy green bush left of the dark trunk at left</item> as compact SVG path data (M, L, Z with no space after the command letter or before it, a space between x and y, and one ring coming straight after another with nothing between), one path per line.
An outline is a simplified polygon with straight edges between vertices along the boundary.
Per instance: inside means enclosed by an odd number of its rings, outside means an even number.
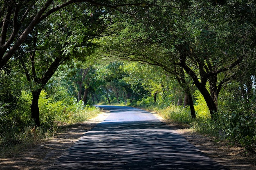
M31 95L21 91L16 107L12 110L0 109L5 114L0 115L0 146L30 144L31 141L38 140L36 136L29 139L29 135L24 135L31 132L31 129L35 127L31 119L30 104ZM39 128L34 132L38 134L38 131L40 131Z

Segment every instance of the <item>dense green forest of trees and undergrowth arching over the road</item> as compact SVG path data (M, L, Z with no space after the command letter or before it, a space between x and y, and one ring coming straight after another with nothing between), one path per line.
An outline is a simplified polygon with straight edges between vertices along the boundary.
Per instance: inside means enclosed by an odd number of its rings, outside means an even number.
M0 4L0 145L123 104L255 151L255 0Z

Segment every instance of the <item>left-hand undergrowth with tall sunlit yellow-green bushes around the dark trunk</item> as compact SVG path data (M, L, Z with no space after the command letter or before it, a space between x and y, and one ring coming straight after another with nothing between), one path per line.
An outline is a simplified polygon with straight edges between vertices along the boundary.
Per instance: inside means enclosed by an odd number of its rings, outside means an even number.
M20 106L27 106L31 97L23 92L20 101L23 101ZM41 122L41 126L38 127L30 118L29 108L20 107L8 116L5 110L0 109L2 115L6 114L5 119L3 117L0 119L0 152L2 153L0 157L6 157L10 153L15 154L27 146L54 137L61 131L60 126L86 121L100 113L99 109L85 106L83 102L76 102L72 98L65 97L54 101L48 98L44 91L40 95L38 106Z

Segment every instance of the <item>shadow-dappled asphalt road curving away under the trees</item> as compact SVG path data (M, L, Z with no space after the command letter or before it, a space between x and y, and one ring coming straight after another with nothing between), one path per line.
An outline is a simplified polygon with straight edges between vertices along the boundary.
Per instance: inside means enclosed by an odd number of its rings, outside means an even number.
M100 107L110 116L49 170L227 170L145 110Z

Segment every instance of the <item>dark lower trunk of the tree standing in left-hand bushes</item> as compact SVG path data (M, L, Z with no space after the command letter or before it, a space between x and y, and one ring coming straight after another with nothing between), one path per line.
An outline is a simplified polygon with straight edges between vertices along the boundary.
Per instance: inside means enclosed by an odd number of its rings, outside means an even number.
M37 126L40 126L40 118L39 118L39 107L38 100L41 93L41 89L37 91L32 91L32 103L31 103L31 117L34 119Z

